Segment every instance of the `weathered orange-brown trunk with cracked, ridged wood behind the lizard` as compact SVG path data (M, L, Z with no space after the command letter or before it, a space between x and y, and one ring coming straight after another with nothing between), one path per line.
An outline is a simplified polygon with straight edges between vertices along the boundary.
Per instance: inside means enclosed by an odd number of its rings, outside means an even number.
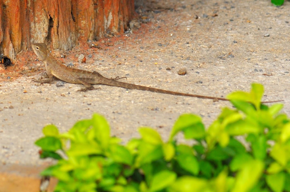
M0 0L0 52L15 59L31 43L69 50L127 29L134 0Z

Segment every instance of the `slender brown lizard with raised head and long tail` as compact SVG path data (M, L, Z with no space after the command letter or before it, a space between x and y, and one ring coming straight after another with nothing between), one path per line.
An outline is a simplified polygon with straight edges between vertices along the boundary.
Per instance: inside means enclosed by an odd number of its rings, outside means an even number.
M37 57L42 60L46 67L46 75L48 78L46 79L32 79L32 81L38 83L50 83L54 80L54 76L62 81L66 81L68 83L73 84L83 84L86 88L82 88L79 91L86 91L86 90L93 90L94 84L103 84L103 85L110 85L116 87L123 87L127 89L137 89L137 90L145 90L145 91L152 91L157 93L166 93L170 95L181 95L181 96L188 96L188 97L197 97L201 99L213 99L214 101L222 100L222 101L229 101L229 99L220 98L220 97L210 97L204 95L193 95L187 93L179 93L174 91L168 91L163 89L157 89L152 87L146 87L141 85L135 85L130 83L125 83L121 81L117 81L122 78L126 77L116 77L115 79L109 79L96 71L90 72L86 70L74 69L69 68L59 61L57 61L53 56L50 55L50 52L46 48L44 43L34 43L32 44L32 49L37 55Z

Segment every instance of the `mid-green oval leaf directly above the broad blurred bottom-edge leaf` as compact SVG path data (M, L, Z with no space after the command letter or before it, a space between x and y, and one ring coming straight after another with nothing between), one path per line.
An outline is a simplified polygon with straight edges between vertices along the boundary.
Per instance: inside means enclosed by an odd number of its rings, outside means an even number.
M182 169L193 175L198 174L199 164L195 156L181 153L177 155L177 162Z

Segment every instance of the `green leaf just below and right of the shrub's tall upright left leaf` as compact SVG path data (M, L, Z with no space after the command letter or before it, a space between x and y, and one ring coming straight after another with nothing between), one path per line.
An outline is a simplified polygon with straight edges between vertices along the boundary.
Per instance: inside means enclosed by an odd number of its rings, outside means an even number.
M118 144L110 146L109 156L118 163L132 165L133 162L133 155L131 155L130 151L124 146Z

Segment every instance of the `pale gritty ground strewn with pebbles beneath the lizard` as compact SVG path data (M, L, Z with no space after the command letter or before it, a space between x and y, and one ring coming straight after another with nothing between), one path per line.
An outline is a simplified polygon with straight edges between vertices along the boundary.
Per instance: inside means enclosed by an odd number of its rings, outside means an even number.
M290 115L289 1L280 8L270 1L253 0L168 3L155 7L147 15L150 22L140 29L94 42L104 49L80 46L53 54L66 65L72 62L74 68L184 93L225 97L234 90L248 91L252 82L262 83L263 100L284 99L283 112ZM87 58L85 64L77 61L81 53ZM166 139L179 115L200 115L209 126L222 107L231 106L104 85L86 93L77 92L81 85L56 87L57 81L37 86L31 78L39 77L44 66L35 59L32 51L23 52L19 60L25 62L1 70L1 164L43 163L34 142L46 124L64 132L77 120L100 113L112 135L124 142L137 137L140 126L153 127ZM177 74L181 68L187 69L186 75Z

